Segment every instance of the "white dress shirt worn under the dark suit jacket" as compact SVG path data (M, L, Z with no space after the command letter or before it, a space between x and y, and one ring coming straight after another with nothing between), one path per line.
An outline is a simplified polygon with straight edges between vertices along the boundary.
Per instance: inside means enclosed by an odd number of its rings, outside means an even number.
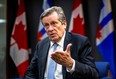
M64 33L62 39L59 42L57 42L57 44L58 44L57 50L63 51L65 34L66 33ZM45 70L45 74L44 74L44 79L48 79L47 78L47 75L48 75L48 66L49 66L49 61L50 61L50 54L53 51L53 44L54 43L51 41L50 42L49 52L48 52L47 65L46 65L46 70ZM67 69L67 72L72 73L74 71L74 69L75 69L75 61L74 61L72 69L70 71ZM56 71L55 71L54 76L55 76L55 79L63 79L62 65L60 65L60 64L57 63Z

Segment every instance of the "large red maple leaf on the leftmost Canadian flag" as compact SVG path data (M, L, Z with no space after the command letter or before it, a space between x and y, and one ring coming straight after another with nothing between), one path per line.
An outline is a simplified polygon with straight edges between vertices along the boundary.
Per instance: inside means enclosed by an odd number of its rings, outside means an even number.
M12 37L14 38L14 40L16 41L19 50L21 48L23 49L28 49L27 48L27 34L26 34L26 29L25 29L25 25L22 24L22 21L15 25L15 29L14 29L14 34L12 35Z

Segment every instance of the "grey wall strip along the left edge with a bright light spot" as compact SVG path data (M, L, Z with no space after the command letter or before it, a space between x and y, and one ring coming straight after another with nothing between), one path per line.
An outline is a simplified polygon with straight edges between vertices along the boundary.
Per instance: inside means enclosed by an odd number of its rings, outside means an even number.
M0 0L0 79L6 78L6 0Z

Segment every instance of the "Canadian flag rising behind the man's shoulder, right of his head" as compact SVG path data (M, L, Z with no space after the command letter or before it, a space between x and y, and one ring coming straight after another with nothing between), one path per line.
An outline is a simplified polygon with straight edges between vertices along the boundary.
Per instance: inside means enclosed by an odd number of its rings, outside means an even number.
M82 1L74 0L73 11L71 15L69 31L78 33L81 35L85 35L84 28L84 17L83 17L83 9L82 9Z

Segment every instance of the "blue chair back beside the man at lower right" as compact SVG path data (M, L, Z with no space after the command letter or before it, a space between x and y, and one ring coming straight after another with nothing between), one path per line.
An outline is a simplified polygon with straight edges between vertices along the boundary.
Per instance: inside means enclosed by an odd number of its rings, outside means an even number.
M110 69L110 65L108 62L95 62L95 65L99 71L100 79L113 79L108 76L108 71Z

